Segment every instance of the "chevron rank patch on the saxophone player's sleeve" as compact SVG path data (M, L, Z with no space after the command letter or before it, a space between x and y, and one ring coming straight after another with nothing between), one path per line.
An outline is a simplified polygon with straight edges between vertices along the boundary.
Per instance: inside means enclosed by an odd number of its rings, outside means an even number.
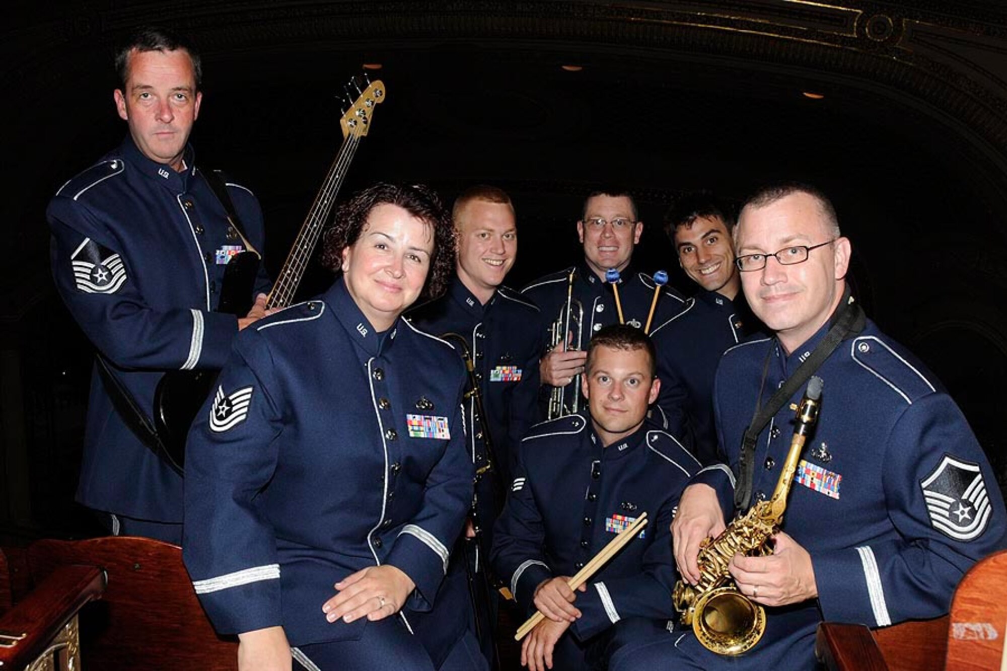
M934 529L960 541L970 541L986 530L993 510L978 463L945 454L919 486Z

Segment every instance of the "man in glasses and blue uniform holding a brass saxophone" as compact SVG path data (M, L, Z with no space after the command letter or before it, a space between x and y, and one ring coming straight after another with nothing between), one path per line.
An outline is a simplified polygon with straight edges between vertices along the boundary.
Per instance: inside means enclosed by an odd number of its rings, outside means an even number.
M773 337L725 353L714 403L729 465L692 479L672 534L683 580L697 585L714 563L703 561L702 541L727 529L713 541L738 548L726 582L764 607L764 631L697 609L692 631L637 643L613 660L618 671L813 669L819 623L884 627L943 615L964 572L1004 534L1000 491L965 417L850 297L850 241L828 198L801 184L764 188L742 209L735 243L745 297ZM743 523L726 521L780 489L813 372L824 382L818 425L767 543L772 554L742 556L759 548L746 547ZM694 636L708 630L756 642L729 659L738 651L708 650Z

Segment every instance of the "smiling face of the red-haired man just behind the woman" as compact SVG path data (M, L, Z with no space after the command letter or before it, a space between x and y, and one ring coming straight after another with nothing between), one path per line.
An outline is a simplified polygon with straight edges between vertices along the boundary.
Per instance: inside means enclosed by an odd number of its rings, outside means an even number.
M469 200L457 213L458 279L485 303L503 282L518 256L514 208L506 203Z

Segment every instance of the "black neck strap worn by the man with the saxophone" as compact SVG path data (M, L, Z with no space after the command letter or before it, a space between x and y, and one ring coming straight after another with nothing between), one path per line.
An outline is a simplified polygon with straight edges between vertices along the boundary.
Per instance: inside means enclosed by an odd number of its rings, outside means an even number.
M786 379L783 386L777 389L761 408L758 405L762 401L761 387L759 389L759 398L755 401L755 414L752 415L752 420L748 424L748 428L745 429L744 437L741 439L741 459L738 463L737 485L734 488L734 508L739 513L747 510L751 504L752 480L755 477L755 443L758 440L758 434L761 433L765 425L769 423L769 420L783 406L783 403L793 397L795 392L829 358L829 355L836 351L840 343L864 329L867 317L860 305L854 302L853 296L850 295L849 287L843 293L843 300L840 302L838 312L835 322L829 328L829 332L818 344L818 347L815 348L811 356L798 367L794 375ZM766 355L765 366L762 370L763 386L768 375L769 357L771 357L771 354L772 346L770 345L769 353Z

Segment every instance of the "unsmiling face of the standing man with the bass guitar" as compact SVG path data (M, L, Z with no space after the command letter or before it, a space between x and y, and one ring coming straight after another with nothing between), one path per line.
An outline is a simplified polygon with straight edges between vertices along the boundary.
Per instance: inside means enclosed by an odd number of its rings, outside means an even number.
M147 158L174 170L199 115L202 94L188 51L138 51L129 54L125 90L116 89L116 109L129 124L137 148Z

